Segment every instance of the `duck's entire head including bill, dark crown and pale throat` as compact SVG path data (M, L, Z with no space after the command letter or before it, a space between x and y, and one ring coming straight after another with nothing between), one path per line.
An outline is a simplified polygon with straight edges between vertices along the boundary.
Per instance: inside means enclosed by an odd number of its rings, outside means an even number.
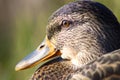
M20 61L22 70L55 56L82 66L120 47L120 26L112 12L100 3L69 3L49 18L44 41Z

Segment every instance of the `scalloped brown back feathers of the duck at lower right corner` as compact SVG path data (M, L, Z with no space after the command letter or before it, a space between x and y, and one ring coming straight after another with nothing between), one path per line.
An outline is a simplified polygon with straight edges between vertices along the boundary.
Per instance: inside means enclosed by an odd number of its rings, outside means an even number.
M120 80L120 49L70 73L66 80Z

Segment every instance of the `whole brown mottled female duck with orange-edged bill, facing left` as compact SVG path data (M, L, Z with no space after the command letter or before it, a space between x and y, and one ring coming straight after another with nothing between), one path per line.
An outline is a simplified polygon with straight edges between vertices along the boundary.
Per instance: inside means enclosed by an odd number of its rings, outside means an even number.
M113 13L98 2L76 1L54 12L45 40L15 69L43 63L31 80L120 80L119 48Z

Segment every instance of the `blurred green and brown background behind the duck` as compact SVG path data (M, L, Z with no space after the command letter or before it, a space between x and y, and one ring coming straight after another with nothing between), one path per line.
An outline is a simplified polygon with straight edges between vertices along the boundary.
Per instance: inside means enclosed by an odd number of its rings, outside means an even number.
M27 80L38 66L16 72L15 65L45 36L49 16L74 0L0 0L0 80ZM120 0L96 0L120 21Z

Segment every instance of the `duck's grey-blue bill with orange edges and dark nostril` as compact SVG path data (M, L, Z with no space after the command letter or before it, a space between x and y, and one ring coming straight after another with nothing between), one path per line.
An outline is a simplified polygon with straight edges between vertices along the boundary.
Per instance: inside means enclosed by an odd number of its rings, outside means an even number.
M61 53L57 51L54 45L46 38L35 51L30 53L16 65L15 70L19 71L33 67L59 55L61 55Z

